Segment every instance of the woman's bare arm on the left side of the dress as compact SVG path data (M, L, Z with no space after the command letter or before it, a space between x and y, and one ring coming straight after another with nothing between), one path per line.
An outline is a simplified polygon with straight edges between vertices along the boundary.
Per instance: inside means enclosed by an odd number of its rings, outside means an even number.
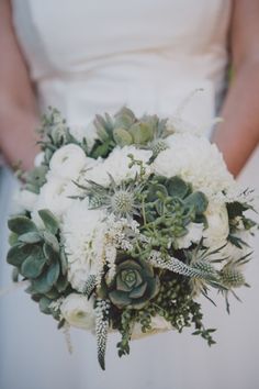
M11 5L0 1L0 151L10 164L32 166L37 109L26 65L12 27Z

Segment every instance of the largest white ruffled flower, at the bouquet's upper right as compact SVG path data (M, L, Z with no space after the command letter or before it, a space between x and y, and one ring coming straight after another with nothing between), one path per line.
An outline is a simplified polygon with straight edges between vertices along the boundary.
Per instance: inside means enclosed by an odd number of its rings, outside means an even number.
M173 177L180 176L209 197L234 185L217 147L205 137L192 134L173 134L166 138L168 149L154 162L154 173Z

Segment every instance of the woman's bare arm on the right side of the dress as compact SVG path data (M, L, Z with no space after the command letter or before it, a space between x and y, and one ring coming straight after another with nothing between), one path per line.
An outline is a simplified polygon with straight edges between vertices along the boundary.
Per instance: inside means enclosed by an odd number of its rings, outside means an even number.
M234 78L213 141L237 175L259 141L259 1L234 0L230 26Z

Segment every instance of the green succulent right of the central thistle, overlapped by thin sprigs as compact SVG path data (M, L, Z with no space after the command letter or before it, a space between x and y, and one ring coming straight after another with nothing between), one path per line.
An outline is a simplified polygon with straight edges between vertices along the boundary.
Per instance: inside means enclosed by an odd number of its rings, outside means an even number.
M207 208L205 194L192 192L191 186L177 176L169 179L154 176L144 194L144 233L155 245L173 245L177 237L188 233L190 222L206 224L203 215Z

